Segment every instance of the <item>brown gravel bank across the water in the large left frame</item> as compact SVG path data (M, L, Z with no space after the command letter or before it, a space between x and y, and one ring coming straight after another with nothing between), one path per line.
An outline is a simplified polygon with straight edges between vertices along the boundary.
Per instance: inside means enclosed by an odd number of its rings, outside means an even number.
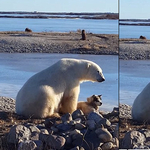
M0 52L117 55L118 35L54 32L0 32Z

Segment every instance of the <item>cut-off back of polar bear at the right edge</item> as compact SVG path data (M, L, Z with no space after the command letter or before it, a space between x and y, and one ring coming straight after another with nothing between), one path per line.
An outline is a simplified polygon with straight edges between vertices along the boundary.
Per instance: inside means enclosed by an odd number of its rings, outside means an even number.
M132 118L139 122L150 122L150 83L134 100Z

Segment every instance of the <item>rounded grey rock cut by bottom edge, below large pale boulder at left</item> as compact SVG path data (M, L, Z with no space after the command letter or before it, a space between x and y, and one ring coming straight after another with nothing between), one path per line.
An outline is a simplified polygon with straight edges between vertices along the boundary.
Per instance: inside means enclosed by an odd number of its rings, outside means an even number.
M34 141L26 140L19 144L18 150L37 150L37 145Z

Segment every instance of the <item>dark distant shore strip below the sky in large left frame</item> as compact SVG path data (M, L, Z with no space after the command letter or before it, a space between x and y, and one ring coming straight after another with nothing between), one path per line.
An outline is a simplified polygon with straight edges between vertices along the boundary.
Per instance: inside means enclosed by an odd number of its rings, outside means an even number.
M48 12L0 12L0 18L66 18L66 19L119 19L118 13L48 13ZM15 14L15 15L14 15Z

